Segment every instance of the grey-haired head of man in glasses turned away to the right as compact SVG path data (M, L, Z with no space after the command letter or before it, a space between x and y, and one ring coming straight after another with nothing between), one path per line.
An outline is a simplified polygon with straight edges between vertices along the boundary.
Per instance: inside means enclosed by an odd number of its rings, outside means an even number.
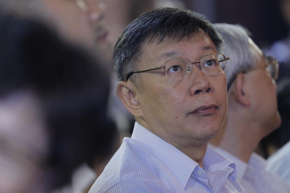
M229 110L239 111L241 119L263 128L268 134L280 125L276 82L278 63L266 57L239 25L215 24L224 38L224 53L230 57L227 76ZM229 112L230 113L230 112Z

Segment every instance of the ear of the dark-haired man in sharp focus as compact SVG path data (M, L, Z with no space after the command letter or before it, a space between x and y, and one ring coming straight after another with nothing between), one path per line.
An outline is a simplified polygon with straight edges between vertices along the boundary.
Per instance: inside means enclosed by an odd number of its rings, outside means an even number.
M137 95L136 95L137 94ZM138 88L130 81L121 81L117 84L117 95L128 109L128 111L135 117L140 117L141 108L138 101Z

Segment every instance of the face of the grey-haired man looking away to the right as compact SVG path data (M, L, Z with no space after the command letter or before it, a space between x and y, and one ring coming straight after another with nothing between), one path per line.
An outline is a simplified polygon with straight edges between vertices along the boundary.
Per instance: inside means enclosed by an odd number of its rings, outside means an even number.
M255 122L263 125L268 134L281 124L280 114L277 108L276 82L271 78L269 72L266 71L266 59L262 51L249 38L250 49L259 57L258 62L253 66L256 70L246 73L248 77L247 87L250 89L250 104L253 106Z

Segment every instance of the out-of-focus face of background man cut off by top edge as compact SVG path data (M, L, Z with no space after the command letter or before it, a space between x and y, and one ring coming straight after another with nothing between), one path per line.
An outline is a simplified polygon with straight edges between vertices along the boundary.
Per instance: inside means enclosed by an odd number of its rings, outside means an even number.
M43 0L47 19L66 39L83 46L107 48L104 4L100 0Z

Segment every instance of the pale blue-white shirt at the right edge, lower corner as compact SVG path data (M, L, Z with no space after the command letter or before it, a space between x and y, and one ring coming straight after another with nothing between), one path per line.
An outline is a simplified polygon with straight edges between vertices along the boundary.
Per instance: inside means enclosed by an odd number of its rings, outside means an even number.
M267 162L266 169L269 172L276 173L290 188L290 141L270 156Z

